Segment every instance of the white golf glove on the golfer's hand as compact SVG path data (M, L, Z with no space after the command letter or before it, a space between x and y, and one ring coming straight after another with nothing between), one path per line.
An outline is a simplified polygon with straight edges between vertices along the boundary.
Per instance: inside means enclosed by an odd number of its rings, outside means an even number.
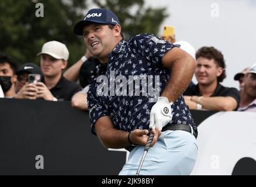
M171 105L166 97L158 97L157 102L150 111L150 129L157 127L160 131L172 119Z

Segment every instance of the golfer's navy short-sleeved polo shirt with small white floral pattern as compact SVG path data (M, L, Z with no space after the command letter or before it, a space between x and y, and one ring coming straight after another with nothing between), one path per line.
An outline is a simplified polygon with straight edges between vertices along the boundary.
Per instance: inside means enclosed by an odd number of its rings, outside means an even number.
M120 41L108 56L105 72L108 82L105 83L109 85L109 90L116 87L116 85L110 84L113 81L110 73L113 74L113 71L115 71L116 78L118 75L124 75L127 82L129 82L129 75L151 76L153 82L155 81L155 75L159 75L158 91L160 95L158 96L161 96L170 76L170 71L162 66L161 60L165 53L173 47L176 46L153 34L139 34L128 41ZM108 95L99 96L96 88L101 84L102 82L97 82L95 79L87 96L93 134L95 134L95 122L102 116L110 116L115 129L123 131L149 130L150 110L156 102L150 102L150 98L155 96L150 96L148 93L144 93L146 95L143 96L142 88L139 96L135 96L135 91L133 91L132 96L129 96L128 86L127 90L124 89L124 92L127 93L126 96L111 95L110 91L108 91ZM141 81L140 87L143 84L148 86L148 82L143 83ZM182 95L172 105L172 115L171 124L189 124L196 130L196 125Z

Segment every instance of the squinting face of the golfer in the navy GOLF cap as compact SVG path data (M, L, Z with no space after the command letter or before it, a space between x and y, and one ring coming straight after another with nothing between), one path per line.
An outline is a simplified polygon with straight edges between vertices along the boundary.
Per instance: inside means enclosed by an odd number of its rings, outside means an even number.
M88 24L83 30L84 42L92 56L99 60L108 60L109 53L115 46L115 28L96 23Z

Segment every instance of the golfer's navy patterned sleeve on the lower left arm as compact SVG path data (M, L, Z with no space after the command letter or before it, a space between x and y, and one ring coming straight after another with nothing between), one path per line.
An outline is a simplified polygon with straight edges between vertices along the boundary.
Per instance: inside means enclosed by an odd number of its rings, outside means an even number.
M92 89L94 86L89 87L87 93L87 102L89 109L89 118L91 123L92 134L96 135L95 123L102 116L108 116L108 110L102 105L101 97L96 94L96 89Z

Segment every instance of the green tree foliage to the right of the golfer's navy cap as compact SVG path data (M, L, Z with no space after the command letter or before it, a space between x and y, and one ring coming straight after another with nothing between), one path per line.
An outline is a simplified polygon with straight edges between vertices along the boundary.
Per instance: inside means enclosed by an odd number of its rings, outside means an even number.
M126 39L138 33L157 34L168 16L165 8L145 7L144 0L94 0L94 4L116 13Z

